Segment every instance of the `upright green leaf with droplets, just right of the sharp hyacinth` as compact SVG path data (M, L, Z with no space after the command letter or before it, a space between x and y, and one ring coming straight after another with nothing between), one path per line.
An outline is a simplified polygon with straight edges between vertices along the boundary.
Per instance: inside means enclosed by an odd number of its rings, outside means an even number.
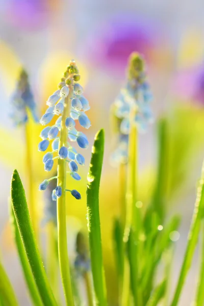
M104 157L104 130L95 135L92 147L92 157L87 176L87 225L89 232L89 246L93 286L96 305L107 305L105 273L103 265L100 218L99 218L99 184Z

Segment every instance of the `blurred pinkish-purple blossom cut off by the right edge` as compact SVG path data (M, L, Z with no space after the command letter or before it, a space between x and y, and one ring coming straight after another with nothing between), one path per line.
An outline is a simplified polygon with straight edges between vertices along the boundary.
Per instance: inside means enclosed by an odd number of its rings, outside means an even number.
M179 72L173 89L180 97L204 105L204 63Z

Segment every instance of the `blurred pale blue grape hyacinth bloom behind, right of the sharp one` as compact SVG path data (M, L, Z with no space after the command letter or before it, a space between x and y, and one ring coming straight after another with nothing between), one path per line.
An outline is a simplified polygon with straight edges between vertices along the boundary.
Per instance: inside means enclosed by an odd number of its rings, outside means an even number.
M150 109L152 94L146 80L144 60L138 53L131 55L128 70L126 84L112 105L117 134L116 149L111 157L113 164L125 164L128 160L130 126L135 125L139 132L144 132L153 120Z

